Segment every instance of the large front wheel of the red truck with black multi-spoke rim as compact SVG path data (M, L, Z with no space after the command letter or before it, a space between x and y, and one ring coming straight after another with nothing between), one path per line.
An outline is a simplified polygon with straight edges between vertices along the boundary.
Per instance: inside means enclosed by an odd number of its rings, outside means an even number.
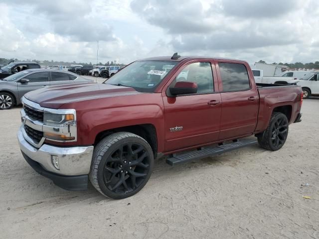
M103 195L123 199L138 193L149 181L154 154L142 137L117 132L94 148L90 181Z

